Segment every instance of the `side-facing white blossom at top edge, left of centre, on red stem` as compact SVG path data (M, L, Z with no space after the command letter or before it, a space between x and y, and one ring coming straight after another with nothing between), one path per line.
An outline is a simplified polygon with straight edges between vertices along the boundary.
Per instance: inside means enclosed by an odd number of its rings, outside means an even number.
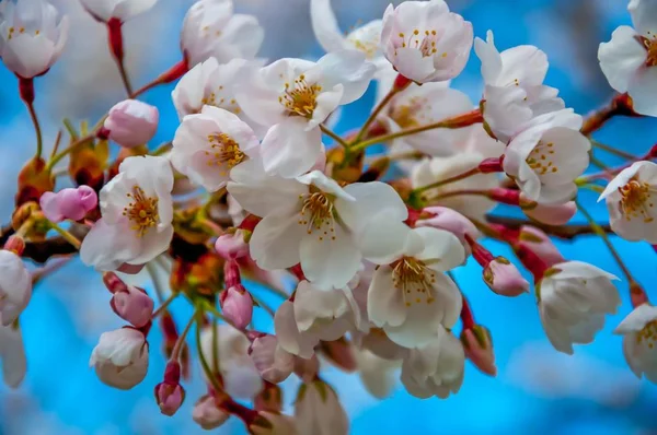
M185 15L181 48L192 68L211 57L253 59L264 38L255 16L233 14L232 0L198 0Z

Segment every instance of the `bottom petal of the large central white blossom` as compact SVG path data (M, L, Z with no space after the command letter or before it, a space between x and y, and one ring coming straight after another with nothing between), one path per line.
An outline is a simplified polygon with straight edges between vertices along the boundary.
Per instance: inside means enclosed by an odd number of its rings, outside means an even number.
M301 269L320 287L342 289L360 267L361 254L351 234L341 224L333 233L313 230L303 235L300 246Z

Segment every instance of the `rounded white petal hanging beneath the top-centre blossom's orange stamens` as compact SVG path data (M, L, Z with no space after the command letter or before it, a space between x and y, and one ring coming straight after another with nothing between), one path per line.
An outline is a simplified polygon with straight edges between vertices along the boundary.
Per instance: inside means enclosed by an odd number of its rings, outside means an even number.
M307 121L290 117L272 127L262 142L265 172L284 178L293 178L309 171L323 152L319 128L306 131Z

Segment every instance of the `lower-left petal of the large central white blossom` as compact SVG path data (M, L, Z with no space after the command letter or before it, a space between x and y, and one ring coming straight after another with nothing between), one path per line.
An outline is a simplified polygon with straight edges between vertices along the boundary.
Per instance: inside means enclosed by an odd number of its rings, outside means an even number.
M297 214L268 214L257 224L251 236L250 249L258 267L285 269L301 260L299 245L307 230L298 221Z

